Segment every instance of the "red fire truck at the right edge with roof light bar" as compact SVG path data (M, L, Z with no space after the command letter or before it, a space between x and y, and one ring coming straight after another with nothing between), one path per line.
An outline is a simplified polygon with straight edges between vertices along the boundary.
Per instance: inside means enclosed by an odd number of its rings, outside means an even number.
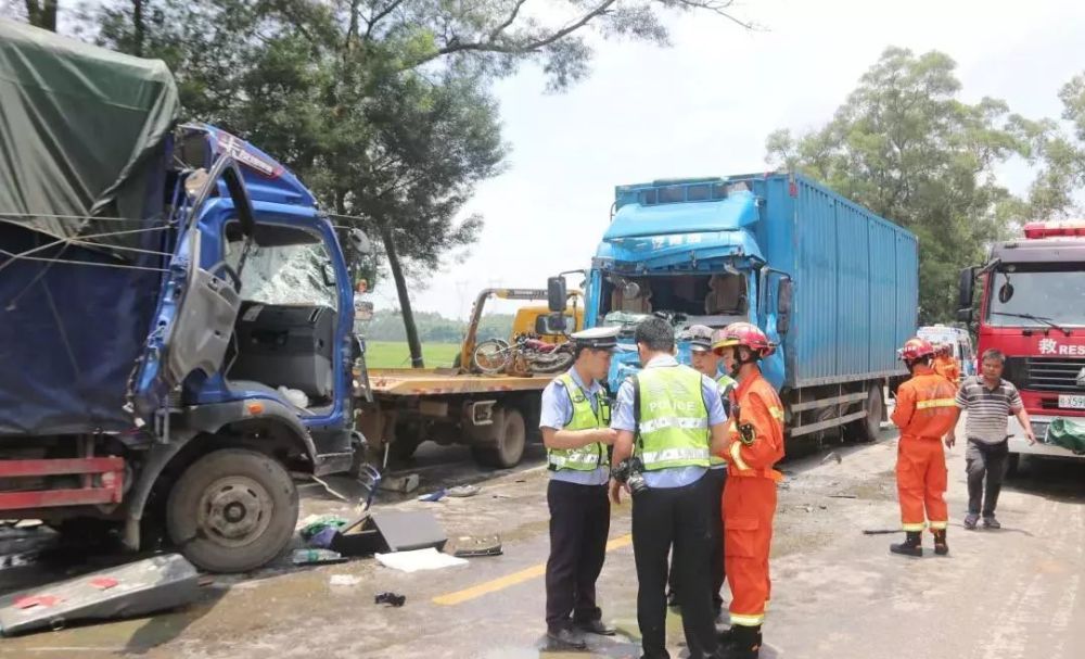
M974 320L980 355L1006 354L1003 377L1021 391L1039 440L1030 446L1011 418L1010 469L1021 454L1085 459L1044 441L1058 418L1085 422L1085 221L1025 225L1023 239L996 243L985 265L961 271L959 293L959 319Z

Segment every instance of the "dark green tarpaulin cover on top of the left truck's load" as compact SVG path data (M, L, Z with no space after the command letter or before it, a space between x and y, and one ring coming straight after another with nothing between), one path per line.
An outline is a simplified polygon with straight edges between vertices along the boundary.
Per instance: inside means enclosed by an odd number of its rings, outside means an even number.
M166 65L0 20L0 221L56 238L138 229L179 112ZM138 236L91 239L113 248ZM130 254L129 254L130 255Z

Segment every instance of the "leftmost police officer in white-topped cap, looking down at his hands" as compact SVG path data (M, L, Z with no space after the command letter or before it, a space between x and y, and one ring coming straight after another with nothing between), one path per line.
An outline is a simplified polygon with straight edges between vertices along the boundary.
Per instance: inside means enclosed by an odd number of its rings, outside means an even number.
M583 649L584 633L612 635L596 604L610 531L610 403L600 384L610 371L618 328L572 335L576 360L542 391L539 428L550 484L550 558L546 565L547 637L557 647Z

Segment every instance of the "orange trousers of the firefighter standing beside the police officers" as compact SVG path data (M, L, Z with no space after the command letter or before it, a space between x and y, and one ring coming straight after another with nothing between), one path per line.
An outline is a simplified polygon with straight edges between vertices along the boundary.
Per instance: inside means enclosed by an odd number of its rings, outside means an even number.
M768 552L776 515L776 482L731 471L724 489L724 571L731 588L731 624L756 626L771 598Z

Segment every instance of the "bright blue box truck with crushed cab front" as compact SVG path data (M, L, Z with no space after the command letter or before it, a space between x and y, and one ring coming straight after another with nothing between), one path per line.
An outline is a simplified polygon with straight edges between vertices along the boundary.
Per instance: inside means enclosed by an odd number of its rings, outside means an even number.
M876 436L884 386L906 375L896 348L916 331L918 241L797 174L620 186L588 273L586 325L620 325L610 386L639 369L633 328L756 324L790 438L846 429ZM679 333L680 335L680 333ZM679 357L689 351L679 343Z

